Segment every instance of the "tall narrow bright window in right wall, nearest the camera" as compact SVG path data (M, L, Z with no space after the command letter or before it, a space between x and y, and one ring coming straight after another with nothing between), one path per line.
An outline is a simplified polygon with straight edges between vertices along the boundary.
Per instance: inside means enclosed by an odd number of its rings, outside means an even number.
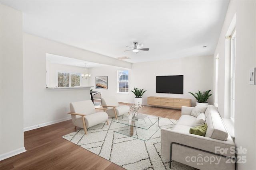
M230 58L230 118L235 119L235 79L236 79L236 31L233 32L231 38L231 58Z

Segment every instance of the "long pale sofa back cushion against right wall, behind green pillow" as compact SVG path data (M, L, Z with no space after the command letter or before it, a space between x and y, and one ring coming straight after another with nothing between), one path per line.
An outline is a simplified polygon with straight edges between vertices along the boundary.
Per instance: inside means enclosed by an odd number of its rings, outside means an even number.
M216 107L208 105L206 112L207 131L205 137L226 141L228 138L228 131L220 117L220 114Z

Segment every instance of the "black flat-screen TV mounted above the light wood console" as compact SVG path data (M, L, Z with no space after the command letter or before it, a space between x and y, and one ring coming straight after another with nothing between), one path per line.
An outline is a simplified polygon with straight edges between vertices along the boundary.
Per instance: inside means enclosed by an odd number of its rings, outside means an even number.
M183 75L156 76L156 92L183 94Z

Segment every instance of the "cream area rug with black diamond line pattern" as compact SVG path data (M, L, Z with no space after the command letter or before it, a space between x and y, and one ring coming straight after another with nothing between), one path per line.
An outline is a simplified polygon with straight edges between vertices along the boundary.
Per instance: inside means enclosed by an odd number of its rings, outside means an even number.
M126 119L122 115L118 119ZM161 156L160 129L148 141L116 133L124 127L114 122L115 118L108 119L109 125L102 123L88 128L88 135L80 129L63 138L93 152L127 170L169 170L170 160ZM172 129L177 120L161 118L160 127ZM194 170L179 162L172 161L172 170Z

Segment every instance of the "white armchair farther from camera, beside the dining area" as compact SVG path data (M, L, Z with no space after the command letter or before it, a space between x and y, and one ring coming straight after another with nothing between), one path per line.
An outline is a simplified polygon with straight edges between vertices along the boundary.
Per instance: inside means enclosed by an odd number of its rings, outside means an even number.
M125 113L130 114L130 107L127 105L119 106L118 100L116 97L102 98L102 107L106 110L109 116L116 117L123 115Z

